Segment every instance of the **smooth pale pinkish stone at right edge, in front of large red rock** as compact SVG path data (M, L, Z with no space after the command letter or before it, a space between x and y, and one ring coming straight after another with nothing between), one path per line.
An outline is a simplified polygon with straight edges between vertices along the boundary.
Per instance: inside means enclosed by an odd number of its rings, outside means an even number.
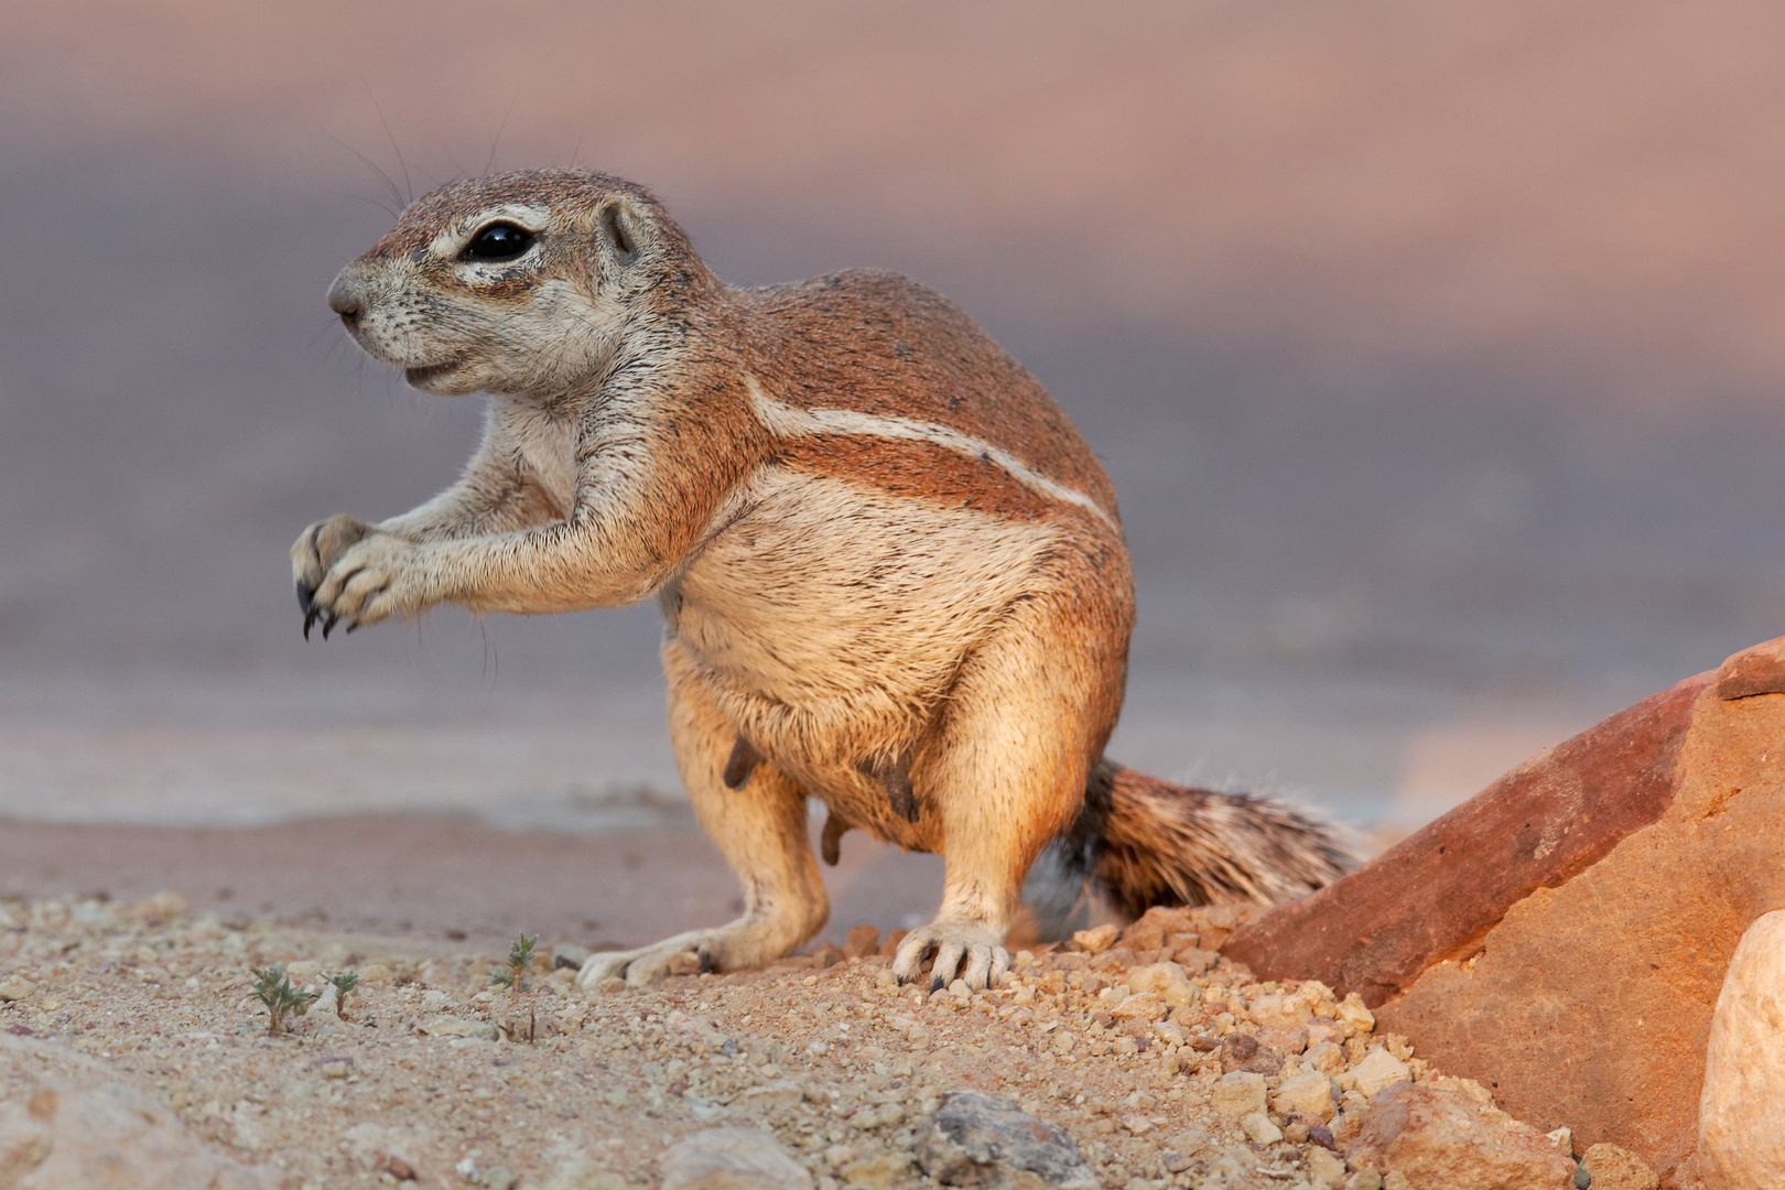
M1755 919L1723 978L1698 1101L1706 1190L1774 1190L1785 1169L1785 910Z

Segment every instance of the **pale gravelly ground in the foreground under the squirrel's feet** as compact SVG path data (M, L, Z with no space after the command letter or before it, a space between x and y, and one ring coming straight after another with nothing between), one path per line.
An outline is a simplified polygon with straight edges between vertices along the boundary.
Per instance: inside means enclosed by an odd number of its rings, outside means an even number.
M1462 1085L1374 1035L1355 997L1217 960L1203 947L1226 935L1221 910L1180 913L1176 933L1155 926L1162 947L1144 930L1110 946L1105 928L1107 949L1023 951L984 994L898 987L857 935L850 958L593 996L539 962L511 997L480 947L227 921L173 894L0 903L0 1111L120 1081L291 1190L652 1186L680 1138L755 1126L835 1190L934 1185L916 1136L944 1092L976 1088L1064 1128L1112 1188L1308 1190L1346 1185L1326 1136L1342 1149L1383 1079ZM1160 962L1192 978L1132 996ZM305 987L364 983L345 1019L323 1001L268 1037L250 985L268 963ZM1337 1113L1223 1110L1217 1083L1251 1038L1273 1094L1319 1070Z

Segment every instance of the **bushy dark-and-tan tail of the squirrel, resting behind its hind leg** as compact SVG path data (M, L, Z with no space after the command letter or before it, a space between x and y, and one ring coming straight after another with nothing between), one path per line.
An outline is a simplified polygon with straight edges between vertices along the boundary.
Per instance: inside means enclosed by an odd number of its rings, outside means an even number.
M1276 905L1357 864L1344 831L1264 797L1189 789L1103 760L1064 860L1130 917L1153 905Z

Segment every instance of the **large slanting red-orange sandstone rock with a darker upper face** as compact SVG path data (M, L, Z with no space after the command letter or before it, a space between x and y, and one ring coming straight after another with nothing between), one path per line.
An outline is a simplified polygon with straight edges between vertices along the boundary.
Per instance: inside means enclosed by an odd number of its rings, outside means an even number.
M1712 1010L1742 933L1785 906L1781 853L1774 640L1542 753L1226 954L1360 990L1517 1119L1694 1186Z

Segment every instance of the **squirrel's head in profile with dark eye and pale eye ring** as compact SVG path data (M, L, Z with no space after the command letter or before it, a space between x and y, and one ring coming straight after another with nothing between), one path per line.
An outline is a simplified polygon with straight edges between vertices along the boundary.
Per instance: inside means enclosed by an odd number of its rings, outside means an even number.
M425 393L550 394L603 373L634 314L669 312L705 278L644 187L528 169L411 203L341 269L328 307Z

